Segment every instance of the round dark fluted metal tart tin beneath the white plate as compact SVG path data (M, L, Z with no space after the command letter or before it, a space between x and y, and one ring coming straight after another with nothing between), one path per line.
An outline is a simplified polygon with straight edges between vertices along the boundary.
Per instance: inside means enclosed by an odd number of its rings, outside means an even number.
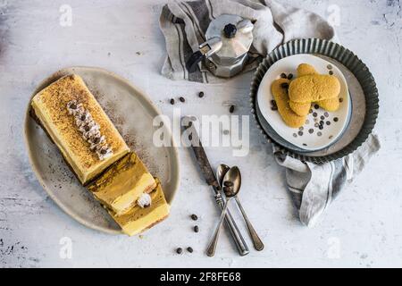
M264 119L256 100L261 81L272 64L288 56L299 54L315 55L336 66L347 80L349 97L353 103L348 128L335 143L318 151L300 152L290 149L286 144L281 144L279 140L281 136ZM328 40L305 38L278 46L260 63L251 82L250 106L257 127L278 151L302 161L322 164L347 156L364 143L377 120L379 95L372 73L353 52Z

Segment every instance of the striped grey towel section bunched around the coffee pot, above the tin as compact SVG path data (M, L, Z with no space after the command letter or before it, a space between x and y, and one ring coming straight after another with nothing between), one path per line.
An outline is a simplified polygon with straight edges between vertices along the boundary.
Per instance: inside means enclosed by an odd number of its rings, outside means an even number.
M274 0L262 0L261 3L250 0L176 1L164 5L160 16L167 50L162 68L165 77L205 83L224 81L214 77L204 63L200 63L195 72L186 69L190 55L205 42L209 23L221 14L236 14L255 21L253 45L243 72L255 69L265 55L291 39L335 37L334 29L319 15Z

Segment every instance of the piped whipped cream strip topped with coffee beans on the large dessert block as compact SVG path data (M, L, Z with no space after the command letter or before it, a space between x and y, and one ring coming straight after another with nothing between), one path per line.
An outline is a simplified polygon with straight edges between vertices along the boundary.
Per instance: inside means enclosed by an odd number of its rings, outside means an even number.
M100 160L113 155L113 150L106 143L105 136L100 132L100 126L94 121L92 115L84 108L81 103L71 100L67 103L67 110L74 116L75 124L90 145L89 149L96 152Z

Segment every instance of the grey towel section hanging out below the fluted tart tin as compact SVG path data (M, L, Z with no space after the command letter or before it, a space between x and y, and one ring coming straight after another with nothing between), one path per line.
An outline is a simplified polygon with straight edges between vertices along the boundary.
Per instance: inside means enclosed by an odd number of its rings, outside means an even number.
M380 147L377 135L371 134L353 154L326 164L303 163L274 148L276 161L287 168L286 181L300 221L314 227L339 191L353 181Z

